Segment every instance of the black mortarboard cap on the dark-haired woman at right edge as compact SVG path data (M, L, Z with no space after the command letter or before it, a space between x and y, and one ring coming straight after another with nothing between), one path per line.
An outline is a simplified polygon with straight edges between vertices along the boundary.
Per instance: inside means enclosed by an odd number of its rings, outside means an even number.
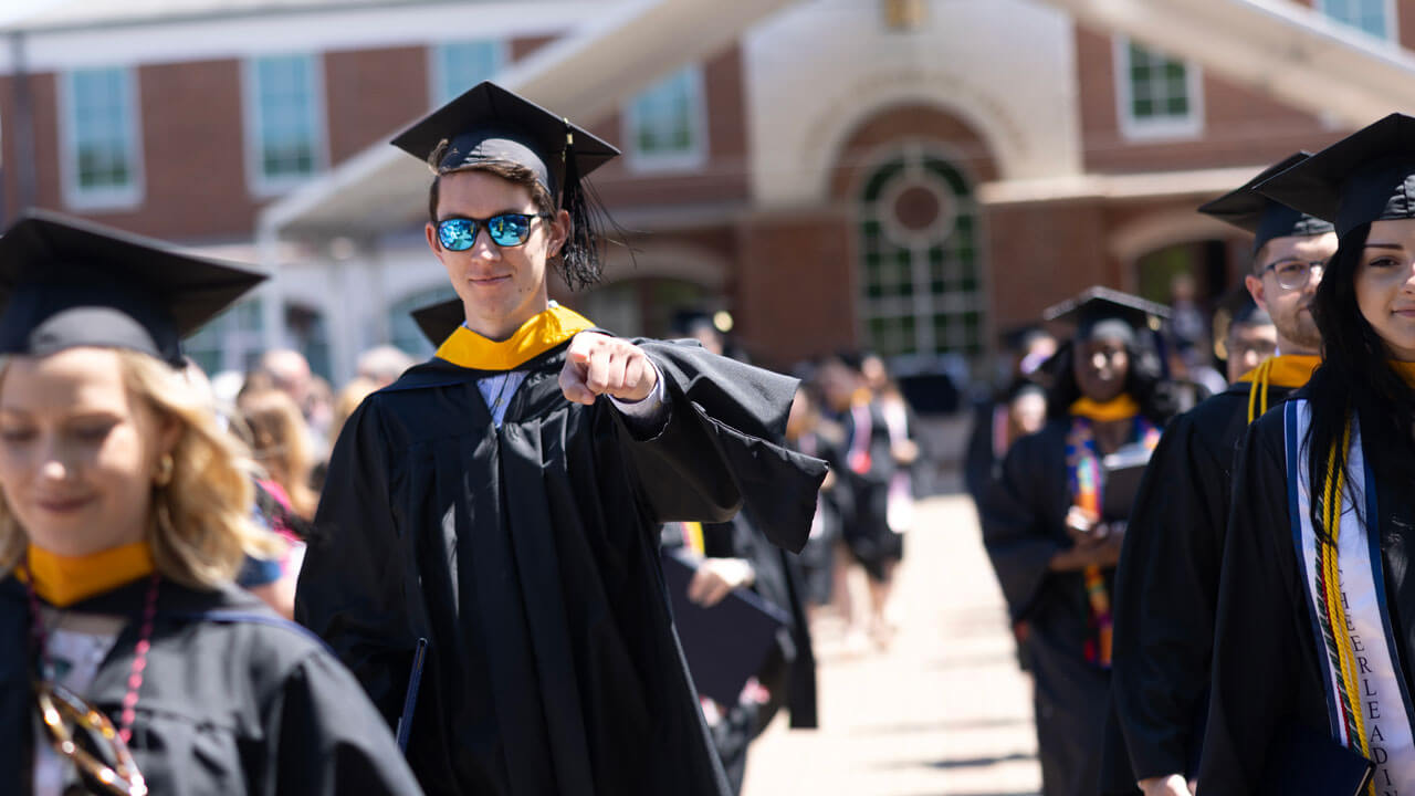
M1368 125L1258 184L1264 195L1336 227L1415 218L1415 118Z

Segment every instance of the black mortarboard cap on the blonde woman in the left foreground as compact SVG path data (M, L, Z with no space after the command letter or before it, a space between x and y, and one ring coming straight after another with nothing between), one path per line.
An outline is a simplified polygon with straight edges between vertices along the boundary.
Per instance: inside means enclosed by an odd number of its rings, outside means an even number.
M58 214L0 237L0 353L132 348L180 365L180 340L265 275Z

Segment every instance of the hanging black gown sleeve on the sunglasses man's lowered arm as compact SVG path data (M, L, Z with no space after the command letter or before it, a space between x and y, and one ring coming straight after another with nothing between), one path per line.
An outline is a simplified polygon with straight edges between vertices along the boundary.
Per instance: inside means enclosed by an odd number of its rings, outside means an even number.
M294 618L330 644L389 725L402 711L416 647L406 584L417 584L391 501L376 406L350 416L300 569Z

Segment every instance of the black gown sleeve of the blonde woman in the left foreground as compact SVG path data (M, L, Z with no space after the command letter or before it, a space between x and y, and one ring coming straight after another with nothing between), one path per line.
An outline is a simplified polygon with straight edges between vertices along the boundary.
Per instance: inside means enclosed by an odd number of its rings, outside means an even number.
M306 656L266 711L275 776L269 796L417 796L388 725L327 653Z

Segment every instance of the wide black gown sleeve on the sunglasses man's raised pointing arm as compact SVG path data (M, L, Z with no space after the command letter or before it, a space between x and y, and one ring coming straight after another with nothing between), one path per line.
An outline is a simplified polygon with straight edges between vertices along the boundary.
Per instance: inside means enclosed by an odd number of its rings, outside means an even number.
M668 401L655 435L621 435L652 520L722 523L746 503L773 544L799 552L826 465L784 443L797 380L699 346L638 344Z

